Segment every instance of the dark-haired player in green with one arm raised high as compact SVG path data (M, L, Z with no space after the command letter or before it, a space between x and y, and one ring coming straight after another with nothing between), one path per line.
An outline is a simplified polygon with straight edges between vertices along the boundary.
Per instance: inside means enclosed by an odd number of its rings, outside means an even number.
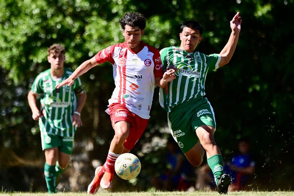
M223 158L213 138L216 128L213 109L205 95L208 70L227 64L237 45L241 30L239 12L230 21L232 33L220 54L205 55L194 51L202 40L202 26L187 21L181 26L180 47L161 50L163 68L176 70L176 79L160 90L161 106L168 112L168 125L187 159L199 166L206 150L219 193L227 193L231 179L223 173Z

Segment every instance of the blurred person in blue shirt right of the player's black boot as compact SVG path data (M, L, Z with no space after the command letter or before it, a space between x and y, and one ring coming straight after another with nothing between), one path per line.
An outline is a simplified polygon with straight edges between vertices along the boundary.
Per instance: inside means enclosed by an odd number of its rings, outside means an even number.
M240 154L235 155L230 162L225 164L225 172L232 177L231 191L246 190L250 175L253 175L255 162L250 154L250 143L247 138L238 141Z

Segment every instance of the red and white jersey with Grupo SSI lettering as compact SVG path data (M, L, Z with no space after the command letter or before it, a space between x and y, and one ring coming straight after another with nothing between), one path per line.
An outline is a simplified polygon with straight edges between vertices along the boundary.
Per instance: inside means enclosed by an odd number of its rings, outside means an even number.
M95 55L97 63L106 61L113 65L115 89L111 103L125 105L141 118L149 119L155 78L163 76L159 51L141 41L141 50L134 53L127 43L109 46Z

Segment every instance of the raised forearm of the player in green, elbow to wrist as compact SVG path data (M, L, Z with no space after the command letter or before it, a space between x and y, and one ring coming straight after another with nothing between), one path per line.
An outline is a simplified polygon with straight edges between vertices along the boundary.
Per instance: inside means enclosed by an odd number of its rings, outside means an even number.
M219 64L220 67L227 64L232 58L238 43L238 38L239 38L239 32L232 31L230 38L228 40L228 43L220 52L220 56L222 58Z

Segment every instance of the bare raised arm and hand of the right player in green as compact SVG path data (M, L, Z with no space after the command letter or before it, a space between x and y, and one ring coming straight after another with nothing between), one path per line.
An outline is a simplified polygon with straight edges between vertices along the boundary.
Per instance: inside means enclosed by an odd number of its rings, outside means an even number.
M238 38L239 38L239 33L241 30L241 22L242 19L239 16L239 12L233 17L233 19L230 21L230 27L232 29L232 33L230 35L228 43L225 45L223 50L220 52L220 63L218 64L219 67L224 66L227 64L230 59L233 56L233 53L235 51L235 48L237 46Z

